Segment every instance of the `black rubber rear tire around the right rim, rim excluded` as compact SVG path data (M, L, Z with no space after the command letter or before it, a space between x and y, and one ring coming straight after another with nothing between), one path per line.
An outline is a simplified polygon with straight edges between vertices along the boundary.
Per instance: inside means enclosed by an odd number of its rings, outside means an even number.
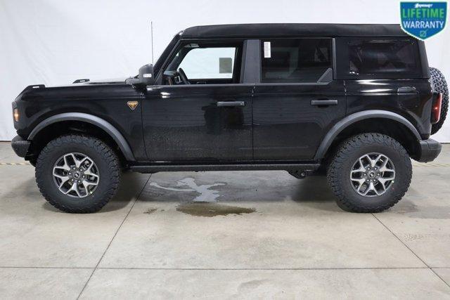
M395 166L395 180L383 195L364 197L352 187L349 178L354 162L364 154L379 152L389 157ZM406 150L390 136L380 133L364 133L344 141L331 160L327 180L336 202L345 211L379 212L401 200L411 183L411 159Z

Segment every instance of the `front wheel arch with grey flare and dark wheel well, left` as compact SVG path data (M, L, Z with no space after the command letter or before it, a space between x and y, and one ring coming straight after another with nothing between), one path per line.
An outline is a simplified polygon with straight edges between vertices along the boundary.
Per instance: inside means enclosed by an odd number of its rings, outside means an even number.
M36 145L34 151L39 152L45 146L46 140L51 141L61 134L80 131L102 138L105 143L117 148L117 154L120 155L121 160L136 160L127 140L120 131L104 119L82 112L68 112L44 119L34 127L27 139L34 142L33 144ZM44 141L44 143L40 141Z

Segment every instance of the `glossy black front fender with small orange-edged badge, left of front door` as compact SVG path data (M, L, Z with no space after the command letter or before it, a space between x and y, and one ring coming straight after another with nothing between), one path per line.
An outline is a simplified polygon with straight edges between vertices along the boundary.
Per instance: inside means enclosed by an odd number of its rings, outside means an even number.
M146 159L142 135L141 95L129 84L73 84L25 91L16 100L21 112L15 124L18 134L27 138L37 124L65 112L94 115L119 131L136 159ZM128 101L138 101L134 110Z

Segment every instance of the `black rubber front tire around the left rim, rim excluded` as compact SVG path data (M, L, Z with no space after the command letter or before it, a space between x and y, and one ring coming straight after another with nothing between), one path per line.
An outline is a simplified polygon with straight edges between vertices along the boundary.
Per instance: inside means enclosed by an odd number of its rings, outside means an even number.
M91 195L82 198L64 195L53 181L56 160L70 152L88 155L98 167L100 179ZM100 210L115 195L120 183L120 162L115 152L98 138L70 134L54 139L41 150L35 176L41 194L53 207L85 214Z

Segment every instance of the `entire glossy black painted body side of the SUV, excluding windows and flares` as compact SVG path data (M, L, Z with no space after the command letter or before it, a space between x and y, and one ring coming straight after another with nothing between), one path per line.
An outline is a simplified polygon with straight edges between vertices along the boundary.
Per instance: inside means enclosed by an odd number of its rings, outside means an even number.
M406 38L410 39L401 37ZM371 74L373 79L345 79L354 78L342 77L340 72L348 68L344 48L350 38L335 37L333 81L260 84L258 39L255 36L245 42L246 51L255 51L253 56L244 53L245 60L252 62L243 65L241 82L245 84L150 87L153 90L143 86L137 89L123 81L40 86L23 91L13 104L21 112L15 128L19 136L27 138L51 116L67 112L93 115L114 126L136 160L142 163L317 159L319 146L335 124L346 116L368 110L404 117L417 129L420 138L430 137L432 86L422 41L417 42L422 74L415 79L388 75L378 79L376 74ZM158 60L157 83L161 84L162 71L181 42L185 40L178 34ZM329 99L338 100L338 105L311 105L311 100ZM131 110L128 101L139 104ZM244 101L245 106L217 107L218 101Z

